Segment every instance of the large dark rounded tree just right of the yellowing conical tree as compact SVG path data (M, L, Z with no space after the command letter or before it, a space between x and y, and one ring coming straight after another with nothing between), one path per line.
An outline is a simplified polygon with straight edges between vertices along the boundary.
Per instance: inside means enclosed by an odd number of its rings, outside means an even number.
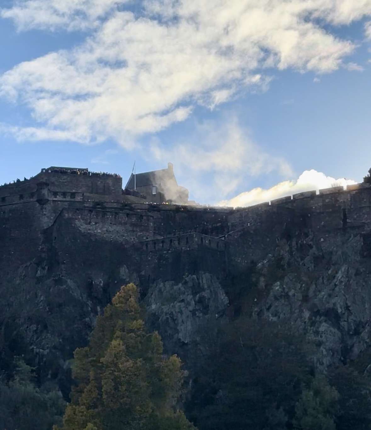
M284 322L246 316L204 332L207 353L198 362L186 405L195 425L202 430L285 429L302 384L311 380L311 346L305 338Z

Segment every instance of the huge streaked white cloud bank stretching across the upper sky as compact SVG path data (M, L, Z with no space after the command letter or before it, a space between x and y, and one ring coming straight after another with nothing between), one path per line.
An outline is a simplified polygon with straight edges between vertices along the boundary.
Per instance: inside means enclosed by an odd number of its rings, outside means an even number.
M42 136L133 147L138 135L184 120L197 104L214 109L265 91L266 68L336 70L355 46L321 25L371 13L371 0L148 0L138 17L125 3L14 0L1 9L19 30L91 29L80 46L0 76L0 96L25 104Z

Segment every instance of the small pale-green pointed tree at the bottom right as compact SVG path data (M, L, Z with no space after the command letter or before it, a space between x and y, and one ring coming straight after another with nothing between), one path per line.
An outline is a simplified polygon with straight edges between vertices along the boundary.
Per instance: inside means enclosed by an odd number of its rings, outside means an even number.
M335 430L339 394L324 375L316 376L297 402L294 428L300 430Z

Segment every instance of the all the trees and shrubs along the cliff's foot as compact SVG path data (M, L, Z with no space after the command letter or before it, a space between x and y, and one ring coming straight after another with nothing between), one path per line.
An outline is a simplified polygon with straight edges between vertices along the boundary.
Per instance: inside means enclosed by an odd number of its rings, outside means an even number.
M11 345L3 348L0 364L15 372L0 380L0 428L195 429L190 421L199 430L371 428L369 352L320 375L310 358L318 344L289 321L255 319L244 311L201 326L202 354L187 357L188 421L176 408L181 362L164 356L160 336L147 332L143 319L136 287L122 287L98 316L89 345L75 351L77 384L66 409L56 384L38 384L33 368L19 358L10 361Z

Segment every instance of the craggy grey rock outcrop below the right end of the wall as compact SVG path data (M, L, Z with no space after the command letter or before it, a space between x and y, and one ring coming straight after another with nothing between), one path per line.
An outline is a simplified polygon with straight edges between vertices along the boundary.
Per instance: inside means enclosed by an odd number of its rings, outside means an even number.
M315 363L320 368L355 359L370 344L371 285L368 259L362 258L362 237L340 235L325 252L313 234L289 244L257 266L266 298L254 316L288 319L296 329L316 341ZM307 246L306 254L299 252ZM316 259L321 263L316 264ZM283 273L272 285L266 273L280 261Z

